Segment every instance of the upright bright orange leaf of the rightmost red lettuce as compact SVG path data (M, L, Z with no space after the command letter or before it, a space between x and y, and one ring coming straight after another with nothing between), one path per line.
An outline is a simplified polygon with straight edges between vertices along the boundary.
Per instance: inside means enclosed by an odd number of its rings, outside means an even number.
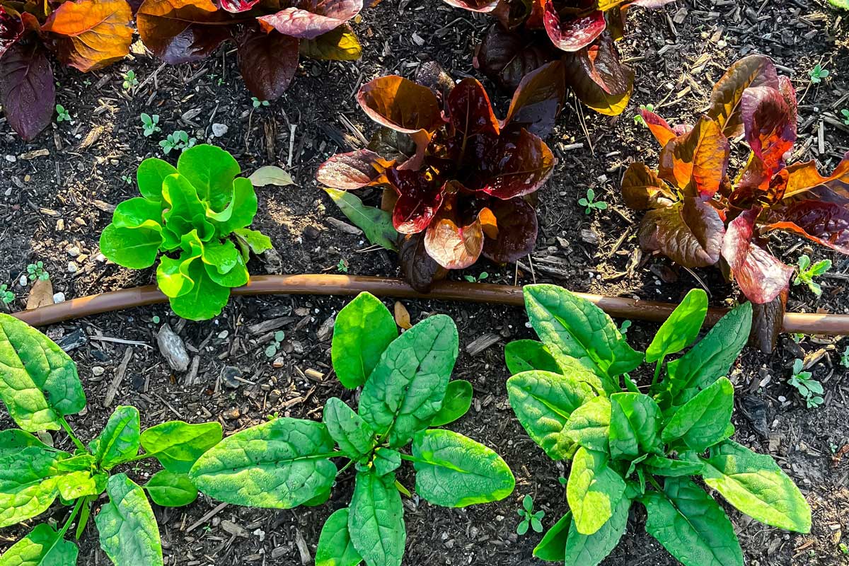
M663 146L658 175L688 196L709 199L725 177L729 154L719 123L702 116L692 130Z

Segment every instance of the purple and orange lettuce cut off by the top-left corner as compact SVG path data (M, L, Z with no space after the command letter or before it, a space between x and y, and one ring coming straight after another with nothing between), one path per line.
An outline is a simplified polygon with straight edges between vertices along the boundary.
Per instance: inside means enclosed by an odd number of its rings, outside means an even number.
M130 50L125 0L0 0L0 104L26 140L50 123L56 104L52 51L82 72L102 69Z

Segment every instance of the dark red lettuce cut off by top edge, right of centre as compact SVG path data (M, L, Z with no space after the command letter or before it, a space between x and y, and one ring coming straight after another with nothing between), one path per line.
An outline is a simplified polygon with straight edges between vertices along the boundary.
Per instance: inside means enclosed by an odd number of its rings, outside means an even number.
M634 73L614 42L624 36L630 6L657 8L672 0L445 0L498 20L475 55L475 67L514 89L531 70L562 59L561 80L583 104L618 115L628 104Z

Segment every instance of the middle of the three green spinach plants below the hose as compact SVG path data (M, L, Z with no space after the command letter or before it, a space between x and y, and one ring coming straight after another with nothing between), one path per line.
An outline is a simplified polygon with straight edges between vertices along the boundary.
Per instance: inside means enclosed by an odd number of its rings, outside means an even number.
M494 451L430 428L469 410L471 384L449 381L457 355L451 318L428 317L398 336L390 311L360 294L336 317L332 343L341 384L363 387L357 412L333 397L321 423L284 417L242 430L200 457L190 477L222 502L289 509L327 502L337 477L353 466L351 503L324 524L316 563L400 566L407 539L401 494L409 493L395 471L403 461L413 462L419 496L442 507L498 501L514 488ZM337 458L348 462L337 468Z

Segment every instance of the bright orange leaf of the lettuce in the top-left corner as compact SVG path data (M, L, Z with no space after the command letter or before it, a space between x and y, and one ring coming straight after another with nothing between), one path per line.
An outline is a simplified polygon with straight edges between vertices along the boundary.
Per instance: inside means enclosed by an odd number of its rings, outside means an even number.
M130 53L131 21L132 9L126 0L73 0L53 10L42 31L54 34L57 59L86 72Z

